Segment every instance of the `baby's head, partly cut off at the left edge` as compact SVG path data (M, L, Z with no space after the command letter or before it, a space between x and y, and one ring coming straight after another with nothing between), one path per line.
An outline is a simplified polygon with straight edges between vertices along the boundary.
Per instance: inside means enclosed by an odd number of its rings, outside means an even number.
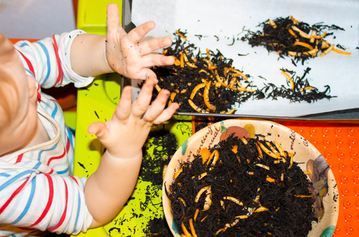
M34 79L13 45L0 34L0 156L25 147L37 128Z

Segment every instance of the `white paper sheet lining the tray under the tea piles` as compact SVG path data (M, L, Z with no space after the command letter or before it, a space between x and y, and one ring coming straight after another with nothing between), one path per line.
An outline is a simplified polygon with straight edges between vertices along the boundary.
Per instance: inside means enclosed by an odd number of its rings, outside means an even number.
M330 52L324 57L315 57L295 67L290 57L278 60L275 52L268 53L264 47L252 48L248 42L233 37L244 36L243 28L251 31L262 30L258 24L277 17L293 15L310 25L323 23L336 25L345 31L331 31L326 37L332 44L346 47L351 55ZM323 99L313 103L295 102L288 99L249 100L239 107L236 114L263 116L303 116L308 114L353 109L359 107L359 1L357 0L134 0L132 22L139 26L153 20L156 28L150 37L169 36L174 38L177 29L187 31L187 39L205 52L220 50L226 58L233 59L233 66L252 76L259 88L263 82L272 82L280 87L286 85L281 68L303 75L311 68L306 78L312 86L324 91L330 85L330 95L336 98ZM196 35L203 35L200 39ZM219 40L215 37L217 36ZM238 54L247 54L238 56ZM258 76L263 76L264 81Z

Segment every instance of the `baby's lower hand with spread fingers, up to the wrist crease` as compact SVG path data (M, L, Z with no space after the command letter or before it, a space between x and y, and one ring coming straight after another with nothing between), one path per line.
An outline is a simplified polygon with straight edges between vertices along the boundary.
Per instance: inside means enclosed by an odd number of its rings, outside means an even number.
M171 103L165 110L169 91L162 90L151 103L152 90L156 79L147 79L132 103L130 86L123 89L112 119L92 123L88 127L107 148L110 155L117 158L134 158L142 155L142 146L152 124L159 124L171 118L178 109Z

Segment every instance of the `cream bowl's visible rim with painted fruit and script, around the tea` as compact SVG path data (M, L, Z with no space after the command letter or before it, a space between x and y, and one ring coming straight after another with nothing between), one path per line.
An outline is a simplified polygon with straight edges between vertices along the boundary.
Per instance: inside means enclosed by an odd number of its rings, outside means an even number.
M191 136L173 155L164 177L162 201L165 218L174 237L180 237L179 229L173 219L171 202L167 198L165 188L174 182L173 176L181 163L192 161L193 155L200 155L203 147L213 147L220 139L228 134L235 133L238 137L255 138L255 134L265 136L266 140L280 143L288 152L295 153L294 161L302 170L310 170L309 180L313 183L315 216L320 217L318 222L312 223L310 237L332 236L339 210L338 190L328 163L318 150L304 137L281 124L266 120L229 119L213 123ZM225 139L223 139L225 140ZM320 193L320 194L319 194Z

